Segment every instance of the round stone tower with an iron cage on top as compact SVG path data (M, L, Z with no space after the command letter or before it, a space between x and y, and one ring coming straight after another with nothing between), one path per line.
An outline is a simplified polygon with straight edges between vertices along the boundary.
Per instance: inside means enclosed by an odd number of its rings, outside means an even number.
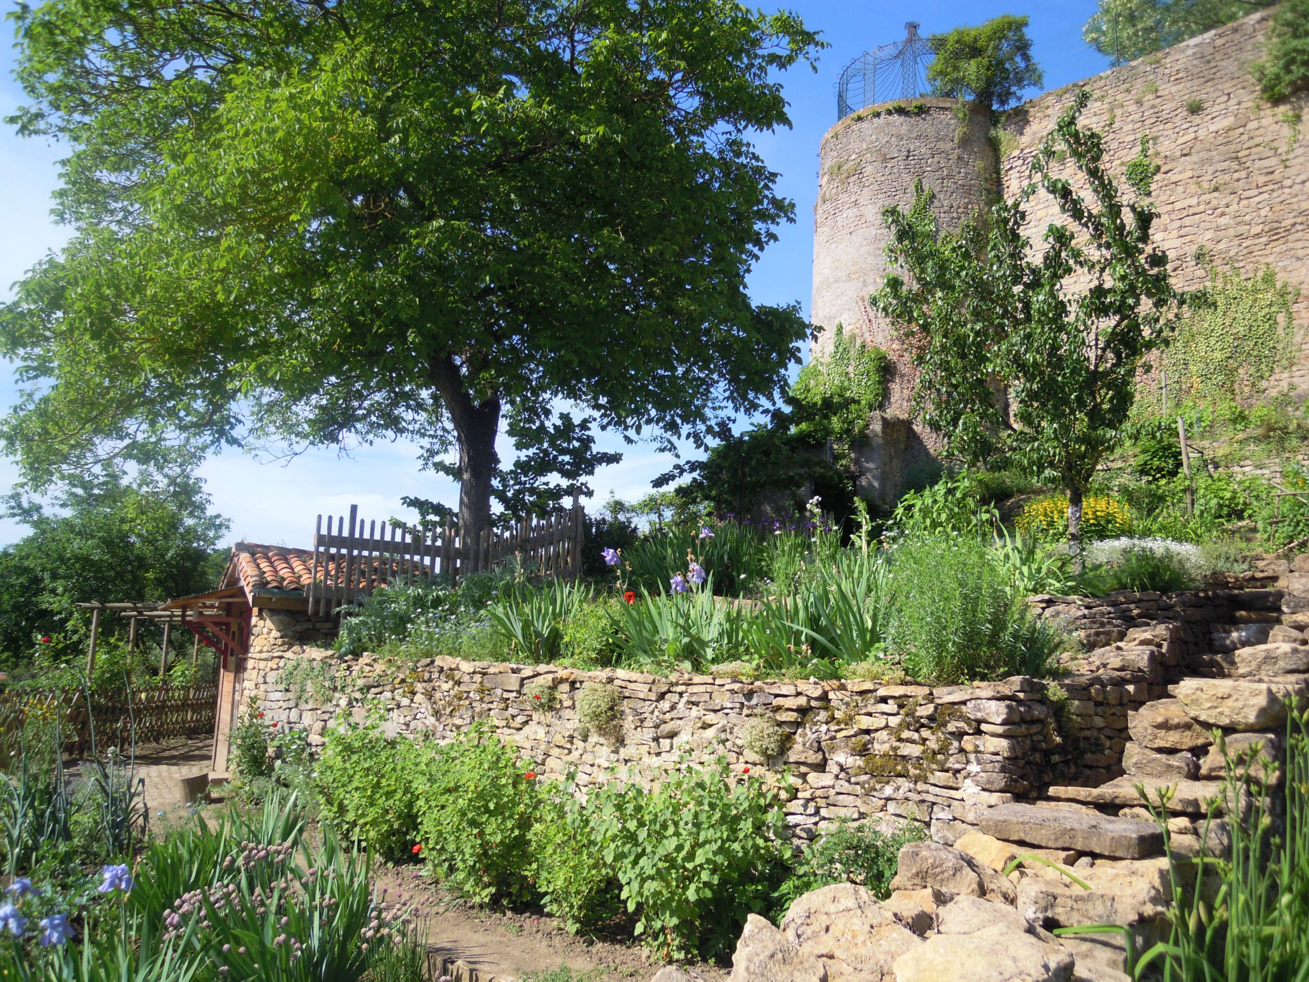
M915 98L867 106L822 139L812 314L818 333L810 355L831 347L839 323L885 350L893 364L886 412L873 420L863 454L860 494L894 499L911 477L906 470L927 462L940 443L908 423L912 367L891 325L868 305L888 272L882 209L912 204L914 181L920 178L935 194L941 225L958 228L997 189L990 128L990 113L973 103Z

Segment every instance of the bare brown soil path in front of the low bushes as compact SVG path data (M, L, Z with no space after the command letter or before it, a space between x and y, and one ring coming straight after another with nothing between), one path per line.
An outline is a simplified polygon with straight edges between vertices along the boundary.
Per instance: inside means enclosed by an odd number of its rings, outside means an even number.
M374 875L387 898L419 907L427 936L439 957L463 958L475 969L518 978L528 972L546 973L567 965L596 982L647 982L660 969L636 943L615 943L568 934L563 924L541 911L495 911L452 897L414 867L381 868ZM717 965L690 966L704 982L725 982L729 970Z

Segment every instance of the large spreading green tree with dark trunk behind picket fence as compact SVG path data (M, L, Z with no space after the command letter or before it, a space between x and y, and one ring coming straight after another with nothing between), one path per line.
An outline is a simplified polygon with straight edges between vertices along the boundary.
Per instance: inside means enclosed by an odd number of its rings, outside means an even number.
M67 143L76 230L0 318L30 478L401 436L428 465L458 450L478 532L501 428L535 454L525 500L600 460L593 423L698 437L796 356L797 309L745 292L793 217L750 141L819 47L793 14L47 0L17 25L17 122Z

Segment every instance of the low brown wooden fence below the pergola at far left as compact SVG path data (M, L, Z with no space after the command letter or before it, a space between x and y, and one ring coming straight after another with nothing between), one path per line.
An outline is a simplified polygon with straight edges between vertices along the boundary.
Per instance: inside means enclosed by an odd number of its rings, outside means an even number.
M149 686L132 690L18 689L0 693L0 745L33 715L59 723L64 752L84 755L94 748L127 750L177 737L213 736L219 703L216 683Z

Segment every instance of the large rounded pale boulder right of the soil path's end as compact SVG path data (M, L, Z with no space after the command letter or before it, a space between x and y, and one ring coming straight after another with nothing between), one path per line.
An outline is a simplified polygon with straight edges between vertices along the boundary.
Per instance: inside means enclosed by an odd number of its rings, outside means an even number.
M863 886L835 884L797 898L781 935L818 958L829 982L882 982L891 962L922 939Z

